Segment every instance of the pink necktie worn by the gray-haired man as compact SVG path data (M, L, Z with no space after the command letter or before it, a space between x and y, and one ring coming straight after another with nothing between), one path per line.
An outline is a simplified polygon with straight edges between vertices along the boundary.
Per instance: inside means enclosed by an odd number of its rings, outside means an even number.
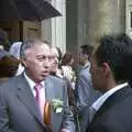
M41 84L35 84L35 100L36 100L36 103L40 108L40 111L41 111L41 114L43 117L43 111L44 111L44 103L45 103L45 95L44 95L44 91L43 91L43 86Z

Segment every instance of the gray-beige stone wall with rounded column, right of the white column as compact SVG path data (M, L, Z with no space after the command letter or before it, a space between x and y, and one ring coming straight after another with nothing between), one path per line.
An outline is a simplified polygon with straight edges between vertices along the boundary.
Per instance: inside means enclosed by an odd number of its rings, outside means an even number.
M103 34L125 32L125 0L67 0L68 51L92 44Z

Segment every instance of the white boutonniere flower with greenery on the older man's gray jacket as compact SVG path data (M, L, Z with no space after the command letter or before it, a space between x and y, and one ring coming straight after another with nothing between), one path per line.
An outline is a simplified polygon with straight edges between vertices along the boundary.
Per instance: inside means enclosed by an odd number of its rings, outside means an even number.
M52 100L52 108L56 113L61 113L63 110L63 101L57 98Z

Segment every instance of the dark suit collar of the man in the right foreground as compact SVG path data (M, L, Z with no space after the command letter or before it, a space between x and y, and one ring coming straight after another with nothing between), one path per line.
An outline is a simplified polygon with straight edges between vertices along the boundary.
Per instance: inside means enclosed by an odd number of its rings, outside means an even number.
M101 108L96 112L94 120L91 123L102 113L105 113L108 109L110 109L116 103L123 100L127 96L132 95L132 88L130 85L125 86L124 88L116 91L113 95L111 95L105 103L101 106Z

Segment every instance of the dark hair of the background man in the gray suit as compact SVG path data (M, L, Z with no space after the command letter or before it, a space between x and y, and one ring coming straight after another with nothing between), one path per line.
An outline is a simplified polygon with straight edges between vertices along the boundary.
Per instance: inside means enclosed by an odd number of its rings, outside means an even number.
M85 45L81 45L79 48L81 48L81 51L82 51L81 53L82 54L87 54L90 57L91 53L92 53L92 50L94 50L94 46L85 44Z

